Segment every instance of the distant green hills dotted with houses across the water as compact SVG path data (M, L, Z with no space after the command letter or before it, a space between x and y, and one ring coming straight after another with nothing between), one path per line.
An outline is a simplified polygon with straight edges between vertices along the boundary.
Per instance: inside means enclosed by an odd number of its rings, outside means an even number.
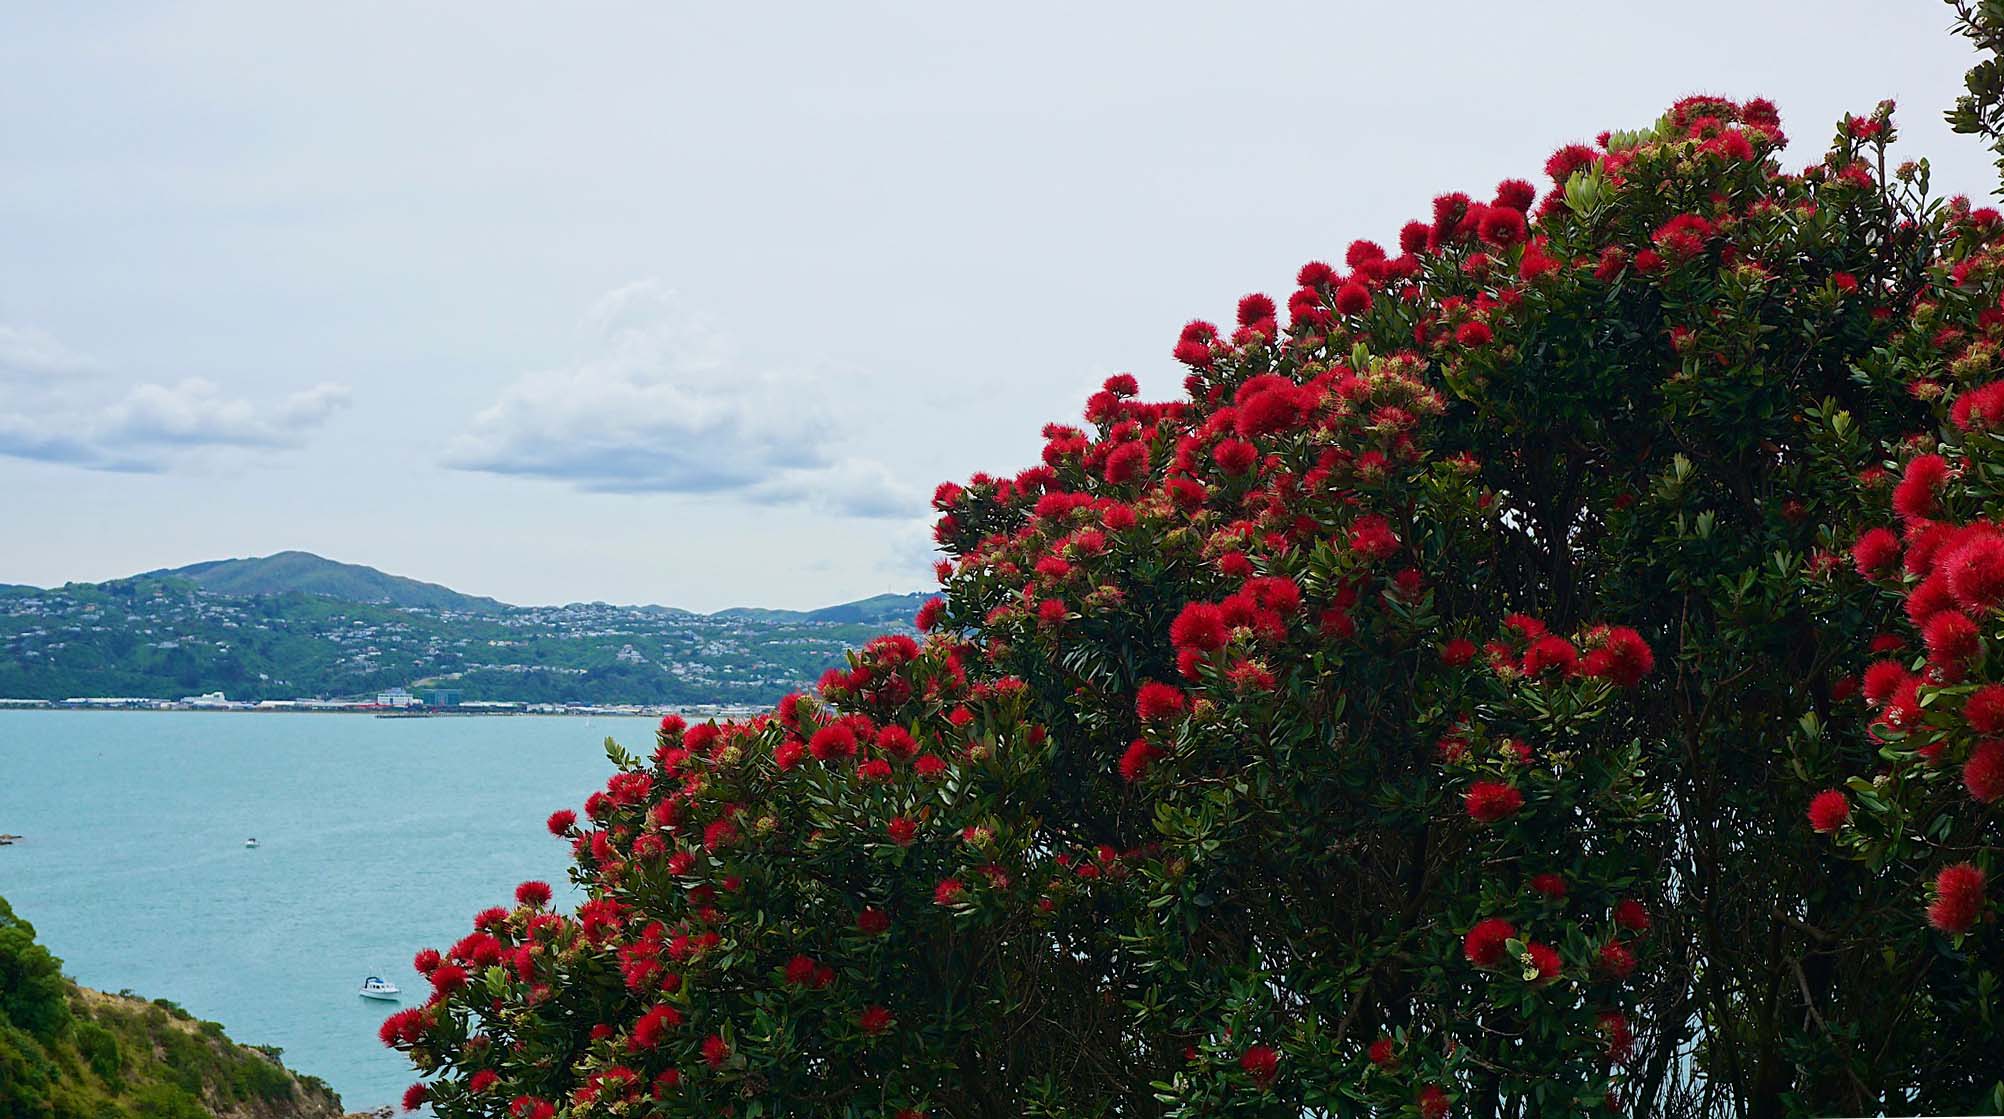
M912 632L924 594L822 610L509 606L305 551L104 584L0 586L0 700L367 698L770 704Z

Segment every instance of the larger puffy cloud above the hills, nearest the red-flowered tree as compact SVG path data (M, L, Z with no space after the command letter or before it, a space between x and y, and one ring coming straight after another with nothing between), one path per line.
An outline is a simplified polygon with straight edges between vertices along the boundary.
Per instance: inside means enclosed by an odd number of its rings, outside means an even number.
M607 493L717 493L858 517L924 509L880 461L844 449L830 377L745 367L673 291L641 281L587 315L587 357L529 373L445 455L457 469Z

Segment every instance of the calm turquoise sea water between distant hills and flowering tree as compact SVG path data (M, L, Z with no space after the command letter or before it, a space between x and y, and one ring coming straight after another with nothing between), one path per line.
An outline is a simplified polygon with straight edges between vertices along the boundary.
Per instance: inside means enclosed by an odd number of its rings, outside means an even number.
M423 1001L411 955L543 878L543 830L633 752L649 720L194 712L0 712L0 896L86 987L172 999L327 1079L351 1111L395 1103L411 1067L381 1047ZM257 836L257 850L244 838Z

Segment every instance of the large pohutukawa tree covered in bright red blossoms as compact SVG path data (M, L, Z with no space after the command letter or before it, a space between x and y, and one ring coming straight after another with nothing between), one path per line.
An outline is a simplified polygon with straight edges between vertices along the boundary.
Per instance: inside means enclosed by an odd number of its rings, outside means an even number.
M942 485L383 1027L441 1115L2004 1107L2004 221L1701 96ZM1992 890L1994 892L1994 890Z

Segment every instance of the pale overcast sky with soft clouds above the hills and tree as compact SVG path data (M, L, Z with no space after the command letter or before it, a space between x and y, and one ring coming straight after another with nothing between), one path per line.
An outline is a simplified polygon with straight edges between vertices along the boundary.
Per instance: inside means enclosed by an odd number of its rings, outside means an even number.
M930 586L1192 315L1687 92L1792 166L1940 0L4 4L0 582L303 547L541 604Z

